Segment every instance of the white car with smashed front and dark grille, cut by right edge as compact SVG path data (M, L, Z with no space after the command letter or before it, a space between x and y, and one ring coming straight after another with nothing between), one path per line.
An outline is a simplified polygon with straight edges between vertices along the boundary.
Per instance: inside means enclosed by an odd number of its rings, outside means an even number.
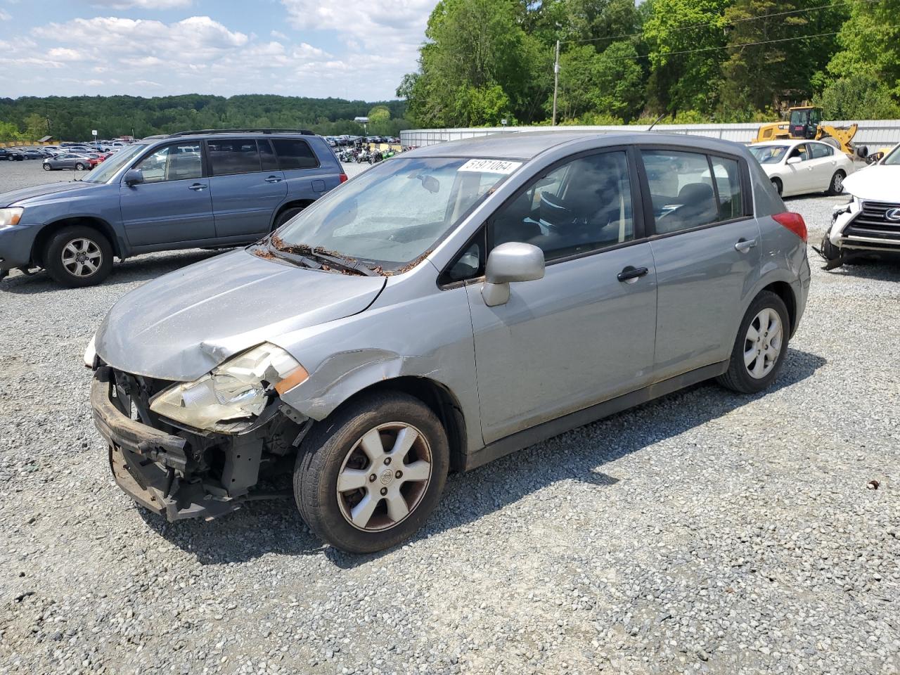
M819 253L826 269L852 253L900 256L900 145L844 181L851 201L834 207Z

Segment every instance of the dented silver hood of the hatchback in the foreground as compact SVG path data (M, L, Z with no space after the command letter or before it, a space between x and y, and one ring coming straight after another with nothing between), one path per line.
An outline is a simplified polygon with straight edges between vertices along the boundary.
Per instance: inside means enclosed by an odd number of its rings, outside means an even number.
M94 346L106 364L127 373L194 380L262 342L278 344L284 333L365 310L385 282L234 251L122 297Z

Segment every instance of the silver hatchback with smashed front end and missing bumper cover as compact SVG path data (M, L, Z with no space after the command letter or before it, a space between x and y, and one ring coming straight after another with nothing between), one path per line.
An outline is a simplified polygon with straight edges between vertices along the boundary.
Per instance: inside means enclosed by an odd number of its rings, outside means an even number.
M761 392L809 280L806 225L746 148L521 133L406 152L141 286L85 364L139 504L214 518L293 491L372 552L448 471L710 378Z

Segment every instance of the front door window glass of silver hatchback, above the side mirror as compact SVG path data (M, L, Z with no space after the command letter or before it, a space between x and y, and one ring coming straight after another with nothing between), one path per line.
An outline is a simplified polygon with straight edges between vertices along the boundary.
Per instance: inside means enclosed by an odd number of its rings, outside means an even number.
M494 214L494 246L534 244L551 260L635 238L624 151L579 157L536 178Z

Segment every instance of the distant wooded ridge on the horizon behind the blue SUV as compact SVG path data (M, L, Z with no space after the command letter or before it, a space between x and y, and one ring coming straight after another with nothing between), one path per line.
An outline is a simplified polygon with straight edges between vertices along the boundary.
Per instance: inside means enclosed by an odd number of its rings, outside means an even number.
M192 129L275 127L311 129L326 136L358 135L355 117L368 116L366 131L399 136L411 126L406 103L346 101L277 95L226 98L202 94L180 96L47 96L0 98L0 140L34 141L44 136L85 140L97 130L101 139L143 138Z

